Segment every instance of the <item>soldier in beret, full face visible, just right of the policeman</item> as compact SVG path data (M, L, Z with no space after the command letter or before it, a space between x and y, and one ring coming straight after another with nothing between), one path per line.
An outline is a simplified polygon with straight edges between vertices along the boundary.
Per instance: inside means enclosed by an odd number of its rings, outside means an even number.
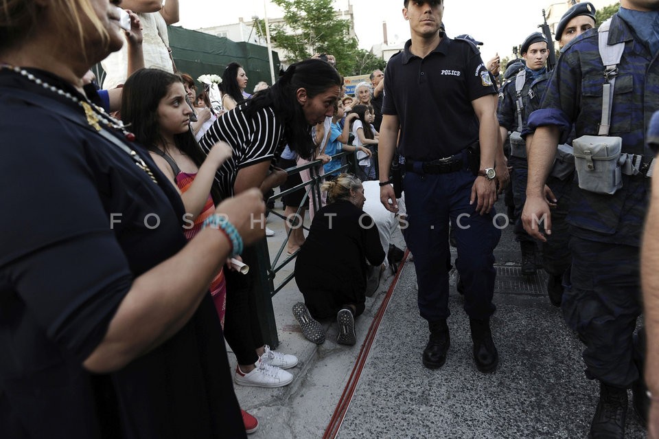
M500 135L502 139L513 133L510 137L511 153L509 165L513 168L513 201L515 202L515 238L520 243L522 251L522 274L532 275L535 273L535 262L537 259L537 245L535 240L524 232L520 214L524 206L524 200L527 190L527 151L524 141L521 137L522 131L527 126L529 114L527 106L529 104L529 89L537 80L541 80L547 75L546 62L549 55L547 40L540 32L534 32L527 36L520 47L520 54L526 61L523 71L520 71L518 77L512 79L505 85L502 94L503 98L499 101L497 110ZM522 75L524 85L520 90L519 96L517 91L517 78Z

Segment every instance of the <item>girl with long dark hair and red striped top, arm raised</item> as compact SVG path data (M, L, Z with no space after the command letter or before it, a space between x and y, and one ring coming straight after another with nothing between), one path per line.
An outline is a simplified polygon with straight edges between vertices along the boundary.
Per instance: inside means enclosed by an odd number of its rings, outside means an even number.
M181 194L185 237L192 239L220 202L213 185L218 167L231 157L231 147L218 142L205 155L189 128L191 109L181 77L159 69L141 69L126 80L122 120L135 131L158 168ZM227 286L222 270L211 282L211 295L224 324Z

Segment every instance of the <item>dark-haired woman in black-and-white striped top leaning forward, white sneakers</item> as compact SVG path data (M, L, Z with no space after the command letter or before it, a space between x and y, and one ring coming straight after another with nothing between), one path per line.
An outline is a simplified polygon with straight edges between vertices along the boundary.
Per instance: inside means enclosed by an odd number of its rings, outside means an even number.
M334 102L341 87L336 69L321 60L308 59L291 65L267 90L218 117L202 137L204 150L218 140L233 148L233 155L216 174L222 196L240 194L250 188L267 192L279 185L271 162L284 146L303 157L311 157L316 148L311 128L334 113ZM258 268L255 250L245 249L243 259ZM292 381L285 370L263 368L264 356L270 365L290 368L297 363L292 355L272 358L264 346L256 309L253 273L227 272L227 315L225 336L238 359L235 382L241 385L277 387ZM256 350L256 352L255 352ZM281 373L284 372L284 373Z

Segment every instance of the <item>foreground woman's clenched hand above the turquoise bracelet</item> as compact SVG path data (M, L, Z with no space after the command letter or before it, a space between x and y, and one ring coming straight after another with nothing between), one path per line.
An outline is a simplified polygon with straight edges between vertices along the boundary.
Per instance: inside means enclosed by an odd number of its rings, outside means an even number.
M265 212L266 203L257 188L222 201L215 210L216 214L226 216L229 223L233 224L244 245L255 243L264 236Z

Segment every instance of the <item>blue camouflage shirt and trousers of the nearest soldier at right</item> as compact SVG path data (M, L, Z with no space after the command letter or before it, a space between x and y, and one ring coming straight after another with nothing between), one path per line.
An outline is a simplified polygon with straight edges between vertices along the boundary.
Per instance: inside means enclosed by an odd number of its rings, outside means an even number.
M643 154L646 162L652 153L645 146L645 131L659 108L659 63L634 38L629 25L614 15L608 42L625 42L625 51L618 65L610 135L622 137L623 153ZM557 126L563 141L573 124L577 136L597 135L603 71L597 30L589 30L566 47L542 109L531 115L529 124ZM649 183L643 175L623 175L623 187L603 195L579 189L575 179L571 192L572 288L562 307L566 322L586 344L588 376L618 387L629 387L639 374L632 335L641 312L638 246Z

